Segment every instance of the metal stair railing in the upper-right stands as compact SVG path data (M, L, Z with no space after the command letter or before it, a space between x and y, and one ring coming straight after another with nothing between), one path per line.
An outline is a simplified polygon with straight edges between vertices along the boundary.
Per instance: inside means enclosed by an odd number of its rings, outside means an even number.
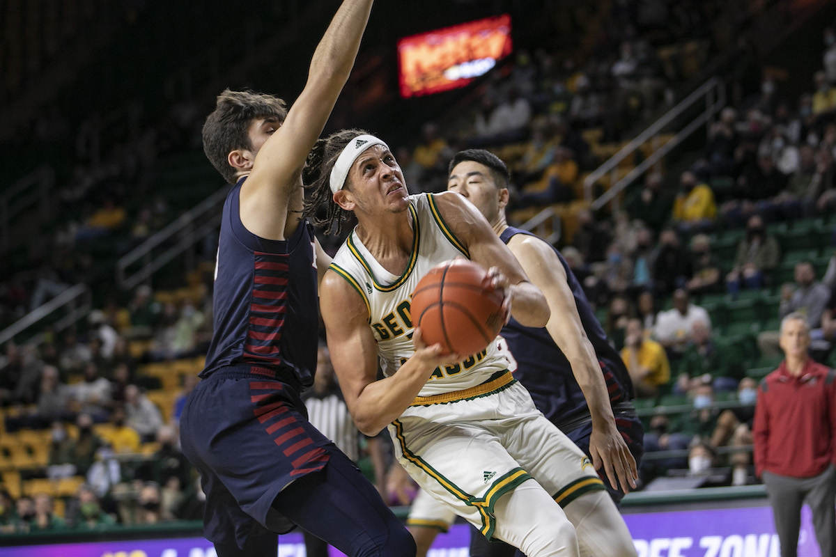
M701 103L705 103L705 109L701 110L700 114L692 119L691 122L681 125L680 120L686 112L696 108ZM726 84L720 78L714 77L708 79L706 83L702 84L685 99L682 99L679 104L676 104L664 116L656 120L653 124L650 124L650 127L645 129L645 131L635 137L630 143L624 145L618 153L614 154L584 179L584 196L591 203L592 210L599 210L609 203L609 201L617 200L617 196L621 190L624 190L625 187L643 175L646 170L659 162L671 149L691 137L703 125L710 123L714 119L714 116L725 106ZM676 124L681 129L666 141L665 144L658 144L659 134L663 133L670 124ZM635 168L619 180L618 168L621 162L627 159L627 157L633 156L642 145L649 141L651 143L656 142L653 152L640 165L635 166ZM604 192L604 195L601 195L597 200L593 200L595 183L608 173L610 175L609 190Z

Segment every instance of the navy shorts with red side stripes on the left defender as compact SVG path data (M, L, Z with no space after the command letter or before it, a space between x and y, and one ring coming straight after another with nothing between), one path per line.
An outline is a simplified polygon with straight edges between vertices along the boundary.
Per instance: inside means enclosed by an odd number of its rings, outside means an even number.
M322 470L339 449L308 422L293 387L234 369L197 384L180 434L183 453L201 473L206 539L243 547L251 536L293 529L273 500L294 480Z

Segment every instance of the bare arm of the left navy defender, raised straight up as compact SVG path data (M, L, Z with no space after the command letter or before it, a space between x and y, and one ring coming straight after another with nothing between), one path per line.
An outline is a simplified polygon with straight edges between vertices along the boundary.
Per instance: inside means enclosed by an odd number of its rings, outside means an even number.
M300 186L308 151L319 138L340 91L349 78L373 0L344 0L319 42L308 81L283 123L274 124L269 139L257 149L247 187L242 189L242 214L247 229L265 238L281 238L288 195ZM277 234L278 231L278 234Z

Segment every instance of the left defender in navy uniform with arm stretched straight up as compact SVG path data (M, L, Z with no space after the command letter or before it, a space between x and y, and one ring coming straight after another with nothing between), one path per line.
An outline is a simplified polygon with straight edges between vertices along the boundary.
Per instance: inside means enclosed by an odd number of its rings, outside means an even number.
M316 366L318 266L324 272L330 261L299 216L301 170L348 79L372 2L341 4L292 109L227 89L203 127L206 155L235 185L222 214L212 344L180 427L219 557L275 557L276 534L296 525L347 555L415 554L400 520L308 421L300 397Z

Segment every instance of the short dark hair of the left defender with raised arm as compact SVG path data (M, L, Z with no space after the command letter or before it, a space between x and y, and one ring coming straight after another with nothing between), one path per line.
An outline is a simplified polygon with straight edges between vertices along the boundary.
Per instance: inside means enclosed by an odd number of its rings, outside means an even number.
M252 149L247 134L252 120L273 117L281 123L287 115L284 101L272 94L225 89L203 124L203 152L223 179L234 184L236 170L227 157L235 149Z

